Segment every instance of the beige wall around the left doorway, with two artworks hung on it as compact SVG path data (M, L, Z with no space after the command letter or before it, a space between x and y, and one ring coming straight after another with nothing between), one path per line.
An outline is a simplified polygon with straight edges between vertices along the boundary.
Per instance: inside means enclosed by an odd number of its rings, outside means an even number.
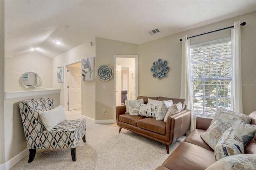
M64 76L64 83L57 81L57 67L95 57L95 40L88 40L88 42L93 42L93 45L89 46L88 43L83 43L52 60L52 87L61 89L60 105L63 107L65 106L64 84L66 84L66 77ZM95 81L82 81L82 115L95 119Z

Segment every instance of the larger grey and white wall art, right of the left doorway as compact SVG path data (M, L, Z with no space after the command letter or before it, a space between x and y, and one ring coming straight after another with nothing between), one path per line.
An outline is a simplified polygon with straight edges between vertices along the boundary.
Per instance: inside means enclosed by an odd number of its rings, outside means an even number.
M82 59L82 81L94 81L94 59L95 57Z

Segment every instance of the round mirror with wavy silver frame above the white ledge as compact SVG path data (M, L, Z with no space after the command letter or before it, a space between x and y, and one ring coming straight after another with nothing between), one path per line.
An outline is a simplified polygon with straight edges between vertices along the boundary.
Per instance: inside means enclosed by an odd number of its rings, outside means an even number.
M40 86L41 83L41 77L33 71L28 71L20 76L20 85L27 89L34 89Z

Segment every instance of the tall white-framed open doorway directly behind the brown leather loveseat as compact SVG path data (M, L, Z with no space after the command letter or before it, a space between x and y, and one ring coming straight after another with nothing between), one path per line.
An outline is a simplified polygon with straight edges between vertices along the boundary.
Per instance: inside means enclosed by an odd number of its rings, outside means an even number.
M138 55L114 55L114 108L125 99L135 100L137 87Z

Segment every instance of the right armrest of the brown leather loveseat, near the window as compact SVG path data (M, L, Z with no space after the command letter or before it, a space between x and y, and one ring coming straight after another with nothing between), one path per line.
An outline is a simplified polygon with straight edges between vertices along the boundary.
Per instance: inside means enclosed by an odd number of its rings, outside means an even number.
M168 144L175 142L190 129L190 124L191 111L188 109L170 115L166 121L166 142L168 142Z

